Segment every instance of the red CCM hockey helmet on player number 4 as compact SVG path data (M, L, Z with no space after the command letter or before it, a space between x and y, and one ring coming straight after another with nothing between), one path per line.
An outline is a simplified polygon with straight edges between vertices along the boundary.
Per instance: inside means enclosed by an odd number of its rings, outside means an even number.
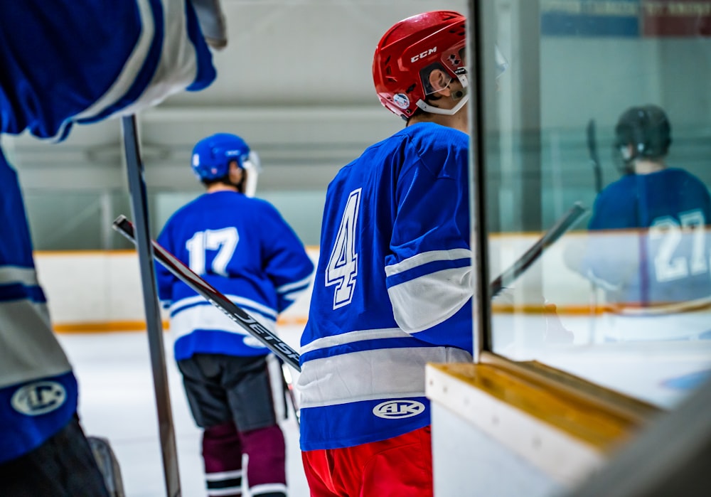
M380 103L403 119L417 108L434 114L455 114L469 96L466 87L466 19L453 11L432 11L403 19L380 38L373 57L373 82ZM440 69L445 81L429 75ZM453 109L427 105L425 98L459 79L464 93Z

